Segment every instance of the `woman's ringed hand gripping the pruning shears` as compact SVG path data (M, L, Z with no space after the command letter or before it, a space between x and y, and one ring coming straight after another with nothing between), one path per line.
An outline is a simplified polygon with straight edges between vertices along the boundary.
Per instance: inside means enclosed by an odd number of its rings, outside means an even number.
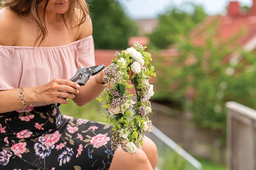
M35 100L39 103L68 104L66 98L73 99L74 94L79 94L80 85L69 80L53 79L45 85L35 87Z

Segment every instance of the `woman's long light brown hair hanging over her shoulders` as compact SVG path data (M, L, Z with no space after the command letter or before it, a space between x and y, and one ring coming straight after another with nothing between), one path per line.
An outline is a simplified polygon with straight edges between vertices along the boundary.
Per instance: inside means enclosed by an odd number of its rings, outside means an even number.
M2 5L4 7L9 6L20 15L33 16L39 28L35 44L41 39L40 45L47 36L45 13L48 2L49 0L4 0ZM38 13L39 5L44 8L43 18ZM59 17L64 21L67 28L74 28L84 23L89 15L89 8L85 0L70 0L68 11L64 14L59 14Z

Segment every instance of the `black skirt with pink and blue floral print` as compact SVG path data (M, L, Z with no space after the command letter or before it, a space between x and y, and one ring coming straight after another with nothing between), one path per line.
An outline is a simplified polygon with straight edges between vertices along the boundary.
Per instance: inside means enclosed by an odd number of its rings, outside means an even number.
M111 125L61 115L56 104L0 114L0 170L107 170Z

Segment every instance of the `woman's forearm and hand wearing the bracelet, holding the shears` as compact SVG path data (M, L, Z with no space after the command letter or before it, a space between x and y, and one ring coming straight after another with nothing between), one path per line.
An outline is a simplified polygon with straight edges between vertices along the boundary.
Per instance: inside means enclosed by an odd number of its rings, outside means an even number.
M49 83L46 83L45 85L39 87L26 87L23 90L23 98L28 105L35 103L67 104L68 100L64 98L74 98L74 95L79 93L79 87L80 86L77 83L69 80L53 79ZM60 93L60 91L62 92ZM6 113L13 110L18 110L20 108L24 108L24 106L20 102L19 94L20 89L9 89L0 91L0 113Z

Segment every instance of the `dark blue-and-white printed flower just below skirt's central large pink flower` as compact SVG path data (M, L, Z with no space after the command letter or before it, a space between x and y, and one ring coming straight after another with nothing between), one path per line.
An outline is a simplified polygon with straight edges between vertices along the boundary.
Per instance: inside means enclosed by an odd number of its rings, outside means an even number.
M48 147L48 146L46 147L42 143L36 142L34 144L35 155L39 156L41 159L48 157L50 155L52 149L54 149L54 148L55 148L55 145L53 145L51 147Z

